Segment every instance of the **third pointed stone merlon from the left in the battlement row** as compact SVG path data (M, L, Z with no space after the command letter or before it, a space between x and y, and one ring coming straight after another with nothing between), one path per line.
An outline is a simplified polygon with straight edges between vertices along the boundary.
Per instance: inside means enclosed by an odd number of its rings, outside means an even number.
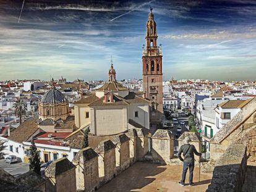
M99 186L104 185L116 175L116 146L111 140L102 141L95 148L98 153Z

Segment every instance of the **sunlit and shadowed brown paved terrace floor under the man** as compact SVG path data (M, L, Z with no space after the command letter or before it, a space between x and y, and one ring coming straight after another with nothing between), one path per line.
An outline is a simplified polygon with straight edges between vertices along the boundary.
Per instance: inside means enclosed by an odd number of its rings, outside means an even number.
M111 182L102 186L98 192L127 192L127 191L179 191L179 192L200 192L205 191L211 181L211 174L201 173L198 182L199 168L194 170L194 186L188 186L187 172L186 186L179 185L182 166L159 165L137 162L129 169L122 172Z

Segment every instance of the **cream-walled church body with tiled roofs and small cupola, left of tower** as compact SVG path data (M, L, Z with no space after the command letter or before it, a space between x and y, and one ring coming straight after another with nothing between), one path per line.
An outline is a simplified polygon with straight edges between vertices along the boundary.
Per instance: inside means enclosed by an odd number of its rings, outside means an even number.
M108 75L105 85L75 103L75 126L90 125L90 132L96 136L124 133L130 123L149 129L149 101L118 83L113 65Z

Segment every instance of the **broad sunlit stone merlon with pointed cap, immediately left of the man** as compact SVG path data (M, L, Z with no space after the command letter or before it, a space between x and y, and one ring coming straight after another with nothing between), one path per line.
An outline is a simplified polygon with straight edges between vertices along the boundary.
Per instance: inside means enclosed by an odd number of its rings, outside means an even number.
M174 141L171 131L158 129L151 139L153 162L168 164L174 156Z

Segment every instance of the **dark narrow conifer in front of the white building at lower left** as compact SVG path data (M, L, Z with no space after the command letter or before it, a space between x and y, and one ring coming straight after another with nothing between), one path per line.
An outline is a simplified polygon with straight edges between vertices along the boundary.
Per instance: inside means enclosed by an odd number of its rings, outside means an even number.
M37 173L38 175L41 174L40 172L40 157L37 151L37 148L35 146L35 142L32 140L31 142L32 146L30 146L30 157L29 157L29 170L32 170L33 172Z

